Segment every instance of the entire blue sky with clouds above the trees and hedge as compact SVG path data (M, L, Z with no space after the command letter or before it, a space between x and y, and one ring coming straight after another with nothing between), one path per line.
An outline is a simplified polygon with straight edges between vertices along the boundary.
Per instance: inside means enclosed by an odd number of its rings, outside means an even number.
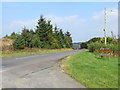
M71 33L73 42L104 37L104 8L107 8L107 36L118 34L117 2L3 2L2 36L36 28L40 15ZM111 12L112 10L112 12Z

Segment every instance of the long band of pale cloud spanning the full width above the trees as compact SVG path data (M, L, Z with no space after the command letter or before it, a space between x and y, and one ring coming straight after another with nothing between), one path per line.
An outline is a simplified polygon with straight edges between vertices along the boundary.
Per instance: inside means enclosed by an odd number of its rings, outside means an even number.
M114 12L107 12L107 35L111 36L111 31L115 35L118 34L118 13L117 9L112 9ZM74 42L86 41L93 37L104 36L104 11L97 11L93 16L85 19L80 15L56 16L45 15L47 20L51 20L53 25L62 28L64 32L67 30L72 34ZM34 29L39 18L31 20L18 20L10 24L3 25L3 33L9 30L9 33L20 32L26 26L29 29Z

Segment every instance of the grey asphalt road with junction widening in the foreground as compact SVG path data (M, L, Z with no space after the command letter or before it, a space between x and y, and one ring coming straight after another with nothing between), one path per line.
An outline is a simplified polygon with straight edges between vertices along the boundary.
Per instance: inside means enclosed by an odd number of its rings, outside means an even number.
M58 60L84 50L18 56L2 60L3 88L85 88L59 68Z

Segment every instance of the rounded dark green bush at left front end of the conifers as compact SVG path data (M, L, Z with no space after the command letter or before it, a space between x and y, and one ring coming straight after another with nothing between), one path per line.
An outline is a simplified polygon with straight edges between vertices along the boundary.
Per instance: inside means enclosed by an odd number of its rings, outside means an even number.
M13 42L13 47L15 49L24 49L25 48L25 40L22 36L17 36Z

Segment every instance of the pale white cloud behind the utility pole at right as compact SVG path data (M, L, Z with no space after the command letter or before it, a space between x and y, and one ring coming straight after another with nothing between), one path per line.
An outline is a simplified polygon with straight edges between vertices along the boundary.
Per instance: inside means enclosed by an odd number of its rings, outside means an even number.
M95 25L98 25L99 29L104 28L104 11L96 12L92 16L92 21L96 22ZM117 9L108 9L106 14L106 31L107 35L111 36L111 31L114 34L118 35L118 10ZM102 32L99 31L102 34Z

